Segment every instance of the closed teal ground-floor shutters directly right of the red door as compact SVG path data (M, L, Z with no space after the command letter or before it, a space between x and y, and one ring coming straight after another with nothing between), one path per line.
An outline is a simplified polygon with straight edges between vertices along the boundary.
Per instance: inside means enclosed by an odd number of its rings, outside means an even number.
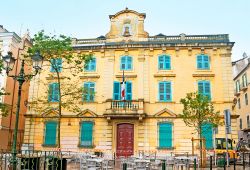
M159 128L159 147L172 148L173 125L169 122L162 122L158 124Z

